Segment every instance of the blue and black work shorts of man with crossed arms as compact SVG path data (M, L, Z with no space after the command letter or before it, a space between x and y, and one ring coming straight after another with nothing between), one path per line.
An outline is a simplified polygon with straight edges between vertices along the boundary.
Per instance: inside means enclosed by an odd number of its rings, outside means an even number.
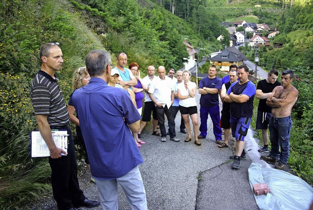
M245 141L246 134L248 133L251 117L233 117L230 115L230 127L232 136L236 140Z

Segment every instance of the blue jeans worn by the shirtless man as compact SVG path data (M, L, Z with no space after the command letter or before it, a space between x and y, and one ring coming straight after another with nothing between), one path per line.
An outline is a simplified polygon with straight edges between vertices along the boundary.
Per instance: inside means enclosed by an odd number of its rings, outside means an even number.
M280 161L282 163L287 163L289 158L289 138L292 126L291 117L271 117L268 124L269 130L269 140L271 143L271 149L269 156L272 158L277 158L280 154ZM280 153L279 153L280 147Z

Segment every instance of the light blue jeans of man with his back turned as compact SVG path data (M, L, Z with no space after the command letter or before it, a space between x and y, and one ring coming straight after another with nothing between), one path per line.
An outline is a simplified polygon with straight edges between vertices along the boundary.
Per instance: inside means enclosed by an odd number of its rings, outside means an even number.
M119 184L127 197L131 210L147 210L146 191L143 186L138 165L126 175L112 180L100 180L94 178L99 189L99 198L102 209L118 210L117 184Z

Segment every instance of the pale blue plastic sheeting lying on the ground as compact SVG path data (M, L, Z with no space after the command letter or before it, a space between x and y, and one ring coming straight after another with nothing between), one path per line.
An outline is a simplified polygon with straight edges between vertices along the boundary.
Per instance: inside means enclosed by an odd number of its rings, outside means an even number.
M267 195L254 195L260 210L309 210L313 187L299 177L258 163L251 163L248 173L251 190L259 183L270 189Z

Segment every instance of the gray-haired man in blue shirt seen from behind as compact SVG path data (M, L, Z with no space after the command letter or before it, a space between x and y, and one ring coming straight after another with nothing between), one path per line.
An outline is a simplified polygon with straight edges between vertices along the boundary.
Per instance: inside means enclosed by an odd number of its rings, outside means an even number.
M70 102L80 117L102 208L118 209L119 184L131 209L147 210L138 167L143 159L131 133L138 132L141 117L126 90L108 86L112 68L108 52L89 52L86 68L91 76L89 84L76 90Z

